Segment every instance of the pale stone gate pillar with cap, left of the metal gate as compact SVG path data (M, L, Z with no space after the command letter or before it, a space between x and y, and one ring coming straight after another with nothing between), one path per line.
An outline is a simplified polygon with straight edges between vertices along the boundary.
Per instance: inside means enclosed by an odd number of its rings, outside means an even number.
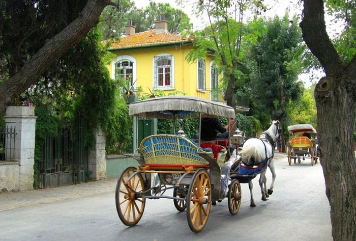
M18 163L19 177L16 190L13 191L34 188L36 118L35 108L32 106L8 106L6 109L6 126L16 128L11 162Z

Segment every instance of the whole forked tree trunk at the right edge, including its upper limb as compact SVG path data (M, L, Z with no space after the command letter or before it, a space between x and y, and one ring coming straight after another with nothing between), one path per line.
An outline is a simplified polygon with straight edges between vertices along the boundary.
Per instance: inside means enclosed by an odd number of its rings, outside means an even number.
M304 0L303 38L324 67L315 87L320 163L331 207L332 235L356 240L356 159L353 150L356 58L346 64L329 40L323 1ZM317 204L316 204L317 205Z

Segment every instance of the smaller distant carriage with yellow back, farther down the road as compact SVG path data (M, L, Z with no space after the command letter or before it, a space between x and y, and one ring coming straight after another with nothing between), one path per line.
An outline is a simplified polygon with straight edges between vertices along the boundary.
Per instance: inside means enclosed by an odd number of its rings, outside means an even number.
M316 130L311 124L295 124L288 126L288 131L293 135L293 137L287 143L288 145L288 164L292 164L292 159L294 159L294 164L298 159L298 163L301 163L301 159L305 158L311 159L311 165L313 166L318 162L318 157L316 154L316 144L315 136Z

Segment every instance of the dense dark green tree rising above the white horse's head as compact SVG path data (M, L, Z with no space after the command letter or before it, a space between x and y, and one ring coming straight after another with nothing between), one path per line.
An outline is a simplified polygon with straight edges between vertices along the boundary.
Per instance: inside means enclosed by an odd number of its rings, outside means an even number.
M251 47L248 56L251 74L245 91L251 96L253 114L262 126L269 125L271 119L285 123L286 104L302 95L303 83L298 81L298 74L305 47L296 22L293 19L290 23L288 15L266 21L265 33Z

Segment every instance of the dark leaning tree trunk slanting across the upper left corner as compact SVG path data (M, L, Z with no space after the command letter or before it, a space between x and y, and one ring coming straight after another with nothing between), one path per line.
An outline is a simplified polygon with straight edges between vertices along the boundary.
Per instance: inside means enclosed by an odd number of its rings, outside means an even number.
M109 0L88 0L86 6L73 22L46 44L14 76L0 84L0 113L19 94L33 85L51 65L81 39L98 22Z

